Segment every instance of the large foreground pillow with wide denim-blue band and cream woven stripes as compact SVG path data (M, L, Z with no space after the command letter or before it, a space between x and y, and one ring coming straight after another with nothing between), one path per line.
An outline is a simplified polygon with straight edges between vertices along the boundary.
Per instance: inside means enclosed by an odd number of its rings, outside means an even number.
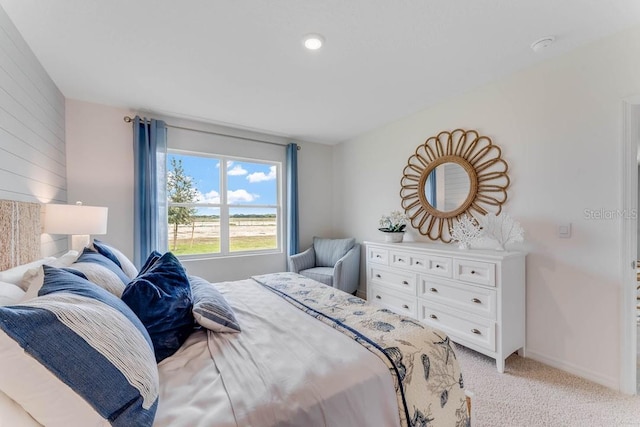
M95 284L44 273L42 296L0 307L0 390L47 426L151 426L158 370L142 323Z

